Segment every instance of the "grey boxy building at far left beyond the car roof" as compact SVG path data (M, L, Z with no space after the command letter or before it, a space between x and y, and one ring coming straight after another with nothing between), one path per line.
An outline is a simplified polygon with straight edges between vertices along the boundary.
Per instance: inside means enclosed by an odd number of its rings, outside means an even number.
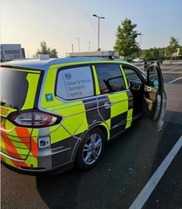
M0 44L0 47L1 62L25 58L25 50L21 48L21 44Z

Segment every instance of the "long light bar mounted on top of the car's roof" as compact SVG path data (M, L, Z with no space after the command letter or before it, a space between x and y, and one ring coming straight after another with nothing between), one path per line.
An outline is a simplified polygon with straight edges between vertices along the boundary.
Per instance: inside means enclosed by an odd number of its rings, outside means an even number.
M94 51L94 52L72 52L67 57L119 57L119 52L115 51Z

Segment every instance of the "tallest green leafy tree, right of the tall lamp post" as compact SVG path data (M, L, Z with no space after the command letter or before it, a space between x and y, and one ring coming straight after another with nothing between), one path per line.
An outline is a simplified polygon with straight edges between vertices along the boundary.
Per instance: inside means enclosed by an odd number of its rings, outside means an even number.
M124 57L124 59L130 59L139 54L140 48L136 38L140 34L134 30L136 26L136 24L126 18L124 21L121 21L121 25L117 28L114 50L118 51L119 55Z

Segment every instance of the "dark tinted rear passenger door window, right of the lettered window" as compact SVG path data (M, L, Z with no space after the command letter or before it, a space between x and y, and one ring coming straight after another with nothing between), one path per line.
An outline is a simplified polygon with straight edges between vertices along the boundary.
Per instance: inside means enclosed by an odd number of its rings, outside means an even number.
M119 65L96 64L95 68L101 94L126 89Z

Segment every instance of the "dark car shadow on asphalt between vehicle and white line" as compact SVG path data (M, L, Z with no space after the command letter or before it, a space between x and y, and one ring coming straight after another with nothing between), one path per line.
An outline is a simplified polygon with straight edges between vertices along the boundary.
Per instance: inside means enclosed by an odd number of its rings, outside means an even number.
M37 190L47 207L129 208L179 136L181 126L171 124L171 117L179 113L167 111L166 115L162 132L147 118L137 121L106 147L103 159L90 171L71 169L37 177Z

